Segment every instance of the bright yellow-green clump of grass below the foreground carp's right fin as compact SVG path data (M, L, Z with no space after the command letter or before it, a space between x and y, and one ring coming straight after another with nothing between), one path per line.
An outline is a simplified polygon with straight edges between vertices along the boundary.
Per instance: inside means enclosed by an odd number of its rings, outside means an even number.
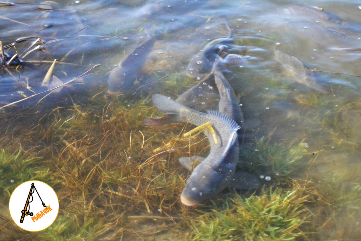
M261 195L235 195L192 222L192 240L293 240L304 236L302 225L310 215L303 204L308 196L296 189L270 189ZM203 211L202 211L203 212Z

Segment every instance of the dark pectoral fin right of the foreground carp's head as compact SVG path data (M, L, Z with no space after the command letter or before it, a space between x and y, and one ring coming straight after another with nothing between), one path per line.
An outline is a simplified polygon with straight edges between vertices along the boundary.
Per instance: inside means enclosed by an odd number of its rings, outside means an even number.
M235 189L255 189L260 187L261 182L255 175L244 171L236 171L228 186Z

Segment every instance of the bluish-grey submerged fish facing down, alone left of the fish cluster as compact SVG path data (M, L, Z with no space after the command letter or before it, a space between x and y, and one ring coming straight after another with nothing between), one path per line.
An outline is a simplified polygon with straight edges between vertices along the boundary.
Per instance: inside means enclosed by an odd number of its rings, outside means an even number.
M148 34L148 39L123 58L118 66L110 72L108 78L109 94L116 95L135 89L139 82L137 77L151 53L154 43L155 39Z

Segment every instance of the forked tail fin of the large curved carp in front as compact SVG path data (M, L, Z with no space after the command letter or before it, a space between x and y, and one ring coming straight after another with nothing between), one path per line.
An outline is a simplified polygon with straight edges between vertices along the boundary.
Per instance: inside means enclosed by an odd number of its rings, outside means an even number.
M187 117L182 114L183 110L188 109L181 103L172 100L164 95L153 95L153 104L164 113L161 118L146 118L144 120L147 126L161 126L170 123L182 123L187 121Z

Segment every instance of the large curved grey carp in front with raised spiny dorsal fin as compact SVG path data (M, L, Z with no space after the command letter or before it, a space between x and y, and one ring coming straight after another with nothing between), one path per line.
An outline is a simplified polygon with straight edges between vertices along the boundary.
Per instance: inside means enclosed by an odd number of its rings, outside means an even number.
M229 184L238 162L237 130L240 128L238 124L219 111L210 110L207 114L202 113L166 96L153 95L152 101L159 110L164 112L164 117L146 118L144 123L147 126L182 123L188 120L196 126L210 122L216 132L217 144L214 142L212 133L208 130L204 131L210 143L210 153L187 179L186 187L181 194L182 203L194 206L223 190ZM165 119L168 121L164 122Z

